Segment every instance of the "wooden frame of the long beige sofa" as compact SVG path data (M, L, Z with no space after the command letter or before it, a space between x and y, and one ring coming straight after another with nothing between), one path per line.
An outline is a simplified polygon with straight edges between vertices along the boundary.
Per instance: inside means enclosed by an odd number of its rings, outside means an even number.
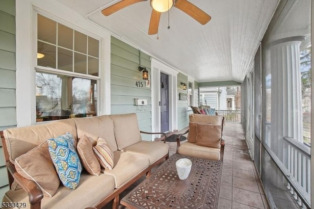
M163 143L166 143L166 137L167 135L163 132L145 132L140 131L141 133L145 134L161 134L163 136ZM28 194L28 200L30 204L30 209L40 209L41 208L41 200L43 199L44 195L39 186L31 181L27 180L26 178L22 177L15 169L14 164L9 160L9 153L7 151L5 138L3 136L3 131L0 131L0 136L2 140L2 148L4 152L4 157L6 161L6 168L8 172L8 178L9 178L9 186L11 188L11 185L13 181L15 180ZM143 170L138 175L134 176L128 183L126 183L124 186L114 189L109 195L104 197L101 201L99 201L96 206L93 206L97 209L103 208L105 205L107 205L110 201L112 202L112 209L118 209L120 204L120 197L119 194L123 192L125 189L127 189L129 186L131 186L134 182L136 182L138 179L140 179L142 176L146 175L146 178L151 175L151 170L153 167L155 167L158 163L163 161L164 159L167 160L169 158L169 152L168 154L164 155L160 159L158 159L156 162L151 164L149 167L147 167L145 170Z

